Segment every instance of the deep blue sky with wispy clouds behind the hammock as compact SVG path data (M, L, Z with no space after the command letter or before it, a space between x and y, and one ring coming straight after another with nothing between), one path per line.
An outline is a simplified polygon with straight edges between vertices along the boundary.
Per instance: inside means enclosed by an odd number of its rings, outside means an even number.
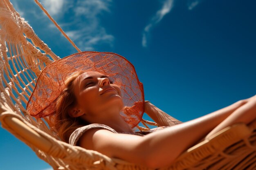
M11 2L56 55L76 53L33 0ZM130 60L145 99L181 121L256 94L253 0L40 2L82 51ZM0 135L0 170L49 168L9 132Z

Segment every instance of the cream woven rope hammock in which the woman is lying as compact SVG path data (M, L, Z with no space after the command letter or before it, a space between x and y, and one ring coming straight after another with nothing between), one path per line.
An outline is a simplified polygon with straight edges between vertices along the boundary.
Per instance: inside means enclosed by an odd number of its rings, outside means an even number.
M15 11L9 0L0 1L0 121L54 170L148 170L99 152L71 146L54 138L47 120L34 119L25 106L40 71L59 59ZM161 110L155 108L161 113ZM141 120L147 124L154 122ZM147 124L146 124L147 123ZM200 139L198 139L199 141ZM186 150L159 170L255 170L256 121L235 124Z

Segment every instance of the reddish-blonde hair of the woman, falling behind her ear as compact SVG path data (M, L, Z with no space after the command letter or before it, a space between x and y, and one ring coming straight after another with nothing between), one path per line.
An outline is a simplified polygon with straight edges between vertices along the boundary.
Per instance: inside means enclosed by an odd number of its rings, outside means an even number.
M58 136L68 143L70 135L74 130L90 124L80 117L71 117L70 109L76 106L76 96L74 94L74 80L84 71L77 71L65 80L66 88L61 92L56 102L56 116L54 119L54 128Z

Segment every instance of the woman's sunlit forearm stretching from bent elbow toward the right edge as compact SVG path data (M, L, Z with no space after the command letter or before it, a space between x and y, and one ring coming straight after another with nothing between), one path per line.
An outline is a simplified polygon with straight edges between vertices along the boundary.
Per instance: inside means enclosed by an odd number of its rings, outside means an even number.
M147 135L144 147L152 148L146 149L149 163L152 163L149 166L167 166L243 104L244 101L239 101L208 115Z

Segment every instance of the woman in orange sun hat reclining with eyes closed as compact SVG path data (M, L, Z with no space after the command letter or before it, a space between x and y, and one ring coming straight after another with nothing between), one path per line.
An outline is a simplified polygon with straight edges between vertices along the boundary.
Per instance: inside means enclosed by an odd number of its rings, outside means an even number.
M108 62L102 63L106 60ZM85 62L81 64L82 61ZM135 91L141 85L133 79L133 75L137 78L134 70L126 71L130 70L129 64L113 53L83 52L63 58L42 71L27 110L36 117L52 117L52 128L63 141L69 140L70 144L150 168L168 166L206 135L208 138L232 124L249 124L256 119L254 96L182 124L173 119L175 126L157 132L144 136L135 133L132 128L138 123L136 120L140 114L137 113L140 113L141 106L160 125L173 124L153 116L155 107L149 102L144 103L143 91ZM60 68L65 70L60 71ZM125 78L115 78L120 74ZM112 79L116 81L113 83ZM40 86L42 88L38 88ZM133 89L133 93L127 92L127 86ZM43 99L47 97L48 101L38 102L38 95ZM130 100L132 105L129 105Z

